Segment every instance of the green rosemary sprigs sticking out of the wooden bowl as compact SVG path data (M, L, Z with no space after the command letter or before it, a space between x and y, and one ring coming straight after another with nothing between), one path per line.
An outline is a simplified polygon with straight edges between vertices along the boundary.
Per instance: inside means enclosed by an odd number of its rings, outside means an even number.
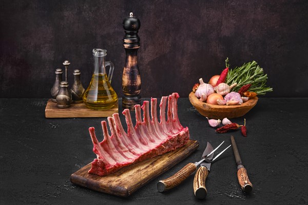
M232 85L237 83L232 91L239 91L239 89L247 84L252 84L249 91L256 92L258 95L265 95L266 92L273 91L273 88L266 87L267 74L264 74L263 69L257 65L254 60L249 63L245 63L241 67L229 69L226 84Z

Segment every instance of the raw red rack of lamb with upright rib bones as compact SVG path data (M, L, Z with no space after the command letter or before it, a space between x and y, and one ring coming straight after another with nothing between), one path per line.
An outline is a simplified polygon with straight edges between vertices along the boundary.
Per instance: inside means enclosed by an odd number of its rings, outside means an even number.
M178 93L162 97L160 103L160 122L157 119L157 99L151 98L151 119L149 101L143 106L136 105L136 126L133 127L128 109L123 111L126 118L127 133L124 131L118 113L108 117L111 136L106 121L102 121L104 140L99 142L94 128L89 128L93 142L93 152L97 158L92 161L88 171L104 176L134 162L155 157L184 146L189 139L188 128L183 128L178 118ZM165 117L168 99L167 121ZM143 121L141 119L143 110Z

